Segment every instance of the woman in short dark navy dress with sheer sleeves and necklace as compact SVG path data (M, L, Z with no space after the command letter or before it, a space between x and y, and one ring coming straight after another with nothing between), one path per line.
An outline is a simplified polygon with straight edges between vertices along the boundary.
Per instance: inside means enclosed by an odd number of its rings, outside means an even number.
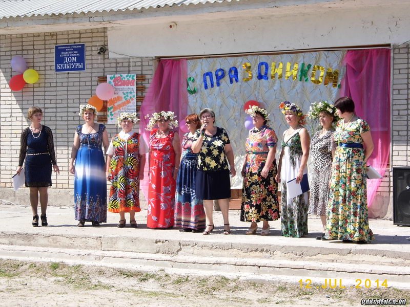
M51 167L54 172L60 173L55 161L53 134L51 129L41 124L43 111L37 106L29 108L27 117L31 125L22 131L20 138L20 154L18 158L17 174L23 168L26 177L26 187L30 188L30 204L33 212L34 227L38 226L38 195L42 214L42 226L47 226L48 187L51 187Z

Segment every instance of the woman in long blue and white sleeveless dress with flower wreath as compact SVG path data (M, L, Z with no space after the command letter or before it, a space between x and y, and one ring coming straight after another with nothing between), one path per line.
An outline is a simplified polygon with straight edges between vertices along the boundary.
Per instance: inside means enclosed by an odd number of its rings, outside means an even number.
M96 113L94 106L80 105L79 115L85 124L77 126L71 150L69 170L74 174L74 211L78 227L84 227L85 222L91 222L94 227L107 222L104 152L109 142L106 127L94 123Z

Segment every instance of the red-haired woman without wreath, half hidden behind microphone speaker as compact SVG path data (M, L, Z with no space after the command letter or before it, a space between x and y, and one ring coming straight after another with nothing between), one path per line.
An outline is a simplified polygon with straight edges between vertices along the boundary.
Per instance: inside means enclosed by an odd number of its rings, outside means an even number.
M181 144L182 155L175 194L175 226L182 227L186 232L202 232L205 229L205 212L196 192L198 154L191 149L201 121L197 114L190 114L185 120L189 131L183 136Z

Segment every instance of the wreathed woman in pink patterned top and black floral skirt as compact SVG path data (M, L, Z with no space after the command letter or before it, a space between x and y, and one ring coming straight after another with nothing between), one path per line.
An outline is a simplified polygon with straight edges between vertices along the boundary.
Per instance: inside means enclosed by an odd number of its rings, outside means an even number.
M255 234L258 222L263 221L261 235L269 234L269 221L279 218L278 185L276 176L275 131L267 126L268 112L264 108L252 106L247 109L255 128L249 131L245 143L245 162L242 167L243 189L240 220L251 222L245 234Z

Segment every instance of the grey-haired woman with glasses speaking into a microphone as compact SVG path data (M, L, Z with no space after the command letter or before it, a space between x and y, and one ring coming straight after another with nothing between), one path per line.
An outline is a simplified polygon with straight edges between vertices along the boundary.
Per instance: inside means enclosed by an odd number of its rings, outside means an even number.
M235 176L234 153L227 131L217 127L215 113L204 108L199 113L201 127L196 131L192 152L198 153L198 172L196 174L196 195L203 200L207 228L202 234L210 234L214 229L213 200L218 200L223 217L223 234L230 234L229 198L231 180ZM229 163L229 167L228 167Z

